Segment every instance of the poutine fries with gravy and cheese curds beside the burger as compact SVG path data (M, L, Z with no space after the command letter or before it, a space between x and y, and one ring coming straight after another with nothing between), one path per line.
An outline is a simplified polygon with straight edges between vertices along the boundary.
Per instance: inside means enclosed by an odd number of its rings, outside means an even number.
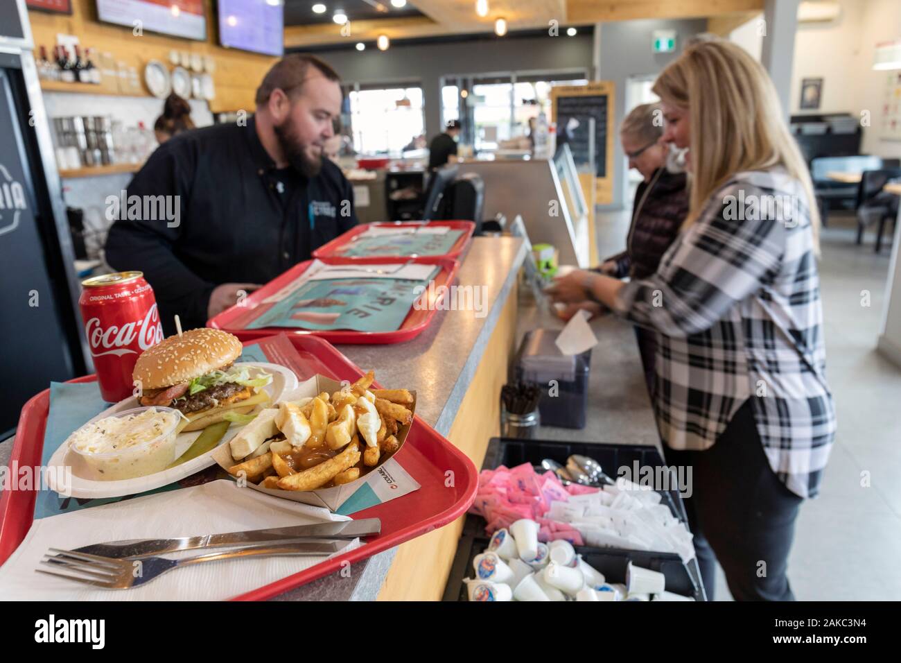
M369 371L331 394L264 410L271 423L264 426L261 418L252 436L232 446L235 465L228 472L261 488L296 492L357 481L396 453L398 430L413 420L414 393L371 389L374 381Z

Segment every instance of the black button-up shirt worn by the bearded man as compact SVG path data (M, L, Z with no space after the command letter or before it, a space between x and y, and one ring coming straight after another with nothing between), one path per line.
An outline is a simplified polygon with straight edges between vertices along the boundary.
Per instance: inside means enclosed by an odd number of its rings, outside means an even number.
M168 334L175 314L184 328L205 325L215 286L271 281L357 224L353 190L341 169L327 159L311 179L290 167L277 169L252 117L246 126L217 124L163 143L126 195L127 209L116 215L106 239L106 262L144 272ZM173 197L167 198L168 216L177 210L177 226L154 207L131 213L132 202L160 195Z

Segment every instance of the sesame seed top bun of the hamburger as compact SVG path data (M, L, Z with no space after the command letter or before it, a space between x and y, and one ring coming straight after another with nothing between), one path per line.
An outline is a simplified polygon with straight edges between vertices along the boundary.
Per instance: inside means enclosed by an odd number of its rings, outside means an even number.
M191 329L169 336L145 350L134 364L132 380L141 388L161 389L232 364L241 356L241 341L220 329Z

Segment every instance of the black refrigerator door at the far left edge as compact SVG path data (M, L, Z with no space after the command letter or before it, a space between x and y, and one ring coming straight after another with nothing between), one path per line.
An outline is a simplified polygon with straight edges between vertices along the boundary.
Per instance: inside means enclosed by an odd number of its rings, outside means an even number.
M0 436L16 426L25 401L51 380L76 374L68 334L77 330L62 265L50 251L58 239L40 223L49 201L35 195L37 170L23 134L29 112L19 76L16 69L0 69Z

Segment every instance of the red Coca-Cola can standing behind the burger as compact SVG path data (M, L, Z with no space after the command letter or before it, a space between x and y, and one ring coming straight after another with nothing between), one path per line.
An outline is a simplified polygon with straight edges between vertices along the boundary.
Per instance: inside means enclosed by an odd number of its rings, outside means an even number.
M100 394L109 403L135 392L138 355L163 339L157 299L141 272L115 272L81 281L78 299Z

